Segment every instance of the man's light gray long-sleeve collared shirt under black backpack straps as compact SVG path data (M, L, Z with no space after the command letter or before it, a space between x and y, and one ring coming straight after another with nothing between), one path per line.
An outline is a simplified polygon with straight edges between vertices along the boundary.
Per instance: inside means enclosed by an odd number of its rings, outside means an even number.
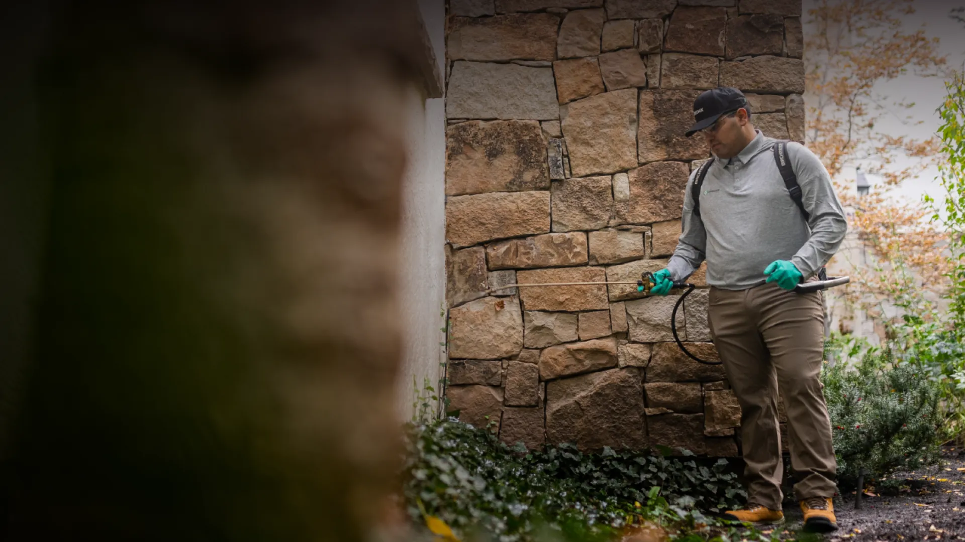
M778 140L757 137L731 160L712 158L703 179L701 214L693 213L692 186L683 201L683 230L667 268L675 281L707 261L707 284L739 290L763 284L764 269L790 260L804 279L812 277L841 246L847 222L831 177L814 153L787 144L787 156L801 185L806 221L790 199L771 148Z

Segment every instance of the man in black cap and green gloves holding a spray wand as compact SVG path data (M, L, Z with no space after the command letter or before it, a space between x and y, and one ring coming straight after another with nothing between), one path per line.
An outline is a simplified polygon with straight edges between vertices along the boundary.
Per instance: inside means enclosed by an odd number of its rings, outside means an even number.
M694 117L687 137L701 133L715 157L697 198L694 184L704 168L690 176L679 243L651 291L666 295L673 281L686 279L706 259L710 333L742 410L748 480L747 506L725 515L758 525L784 522L780 386L805 528L834 530L837 465L818 380L823 298L790 290L815 277L841 245L847 230L841 203L817 156L791 142L786 159L801 191L795 202L778 167L785 160L774 152L778 140L754 128L737 89L703 93L694 101Z

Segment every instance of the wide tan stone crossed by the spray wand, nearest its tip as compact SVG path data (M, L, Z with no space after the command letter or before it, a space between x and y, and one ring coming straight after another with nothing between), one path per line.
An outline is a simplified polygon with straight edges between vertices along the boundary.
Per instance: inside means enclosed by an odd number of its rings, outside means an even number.
M602 267L558 267L517 271L520 284L597 283L606 281ZM606 285L519 288L527 311L602 311L609 308Z

